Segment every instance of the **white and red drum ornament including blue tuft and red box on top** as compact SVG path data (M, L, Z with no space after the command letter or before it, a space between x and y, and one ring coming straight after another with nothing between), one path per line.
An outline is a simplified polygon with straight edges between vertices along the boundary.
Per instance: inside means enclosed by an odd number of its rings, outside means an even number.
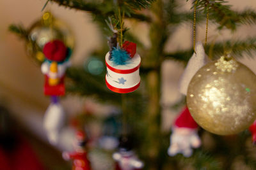
M105 57L107 66L106 85L109 90L117 93L133 92L140 87L141 58L136 53L136 44L128 42L124 45L124 49L114 48L111 52L112 56L109 57L108 52ZM129 51L125 49L129 49Z

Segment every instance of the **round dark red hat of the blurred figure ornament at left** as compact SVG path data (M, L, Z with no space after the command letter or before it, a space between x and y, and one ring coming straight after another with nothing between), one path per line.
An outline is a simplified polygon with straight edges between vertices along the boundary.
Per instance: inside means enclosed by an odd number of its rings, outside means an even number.
M67 47L60 40L53 40L46 43L43 52L48 60L56 62L61 62L67 57Z

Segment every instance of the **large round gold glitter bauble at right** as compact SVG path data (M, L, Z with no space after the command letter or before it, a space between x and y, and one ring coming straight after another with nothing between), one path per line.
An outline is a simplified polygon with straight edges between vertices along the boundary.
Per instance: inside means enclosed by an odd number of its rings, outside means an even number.
M189 83L187 104L195 121L214 134L237 134L256 118L256 76L234 59L211 62Z

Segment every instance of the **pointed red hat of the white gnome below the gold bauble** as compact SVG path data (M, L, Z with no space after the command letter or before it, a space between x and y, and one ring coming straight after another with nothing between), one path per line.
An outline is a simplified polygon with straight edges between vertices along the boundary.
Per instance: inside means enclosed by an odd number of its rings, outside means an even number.
M175 120L175 127L186 127L189 129L196 129L198 127L194 118L191 117L188 107L184 108L179 117Z

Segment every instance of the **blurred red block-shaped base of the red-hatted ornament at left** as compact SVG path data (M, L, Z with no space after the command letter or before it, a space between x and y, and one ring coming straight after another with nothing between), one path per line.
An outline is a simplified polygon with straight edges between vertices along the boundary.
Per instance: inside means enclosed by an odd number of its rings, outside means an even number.
M58 85L49 85L49 77L45 75L44 94L46 96L64 96L65 95L65 84L64 76L60 79Z

